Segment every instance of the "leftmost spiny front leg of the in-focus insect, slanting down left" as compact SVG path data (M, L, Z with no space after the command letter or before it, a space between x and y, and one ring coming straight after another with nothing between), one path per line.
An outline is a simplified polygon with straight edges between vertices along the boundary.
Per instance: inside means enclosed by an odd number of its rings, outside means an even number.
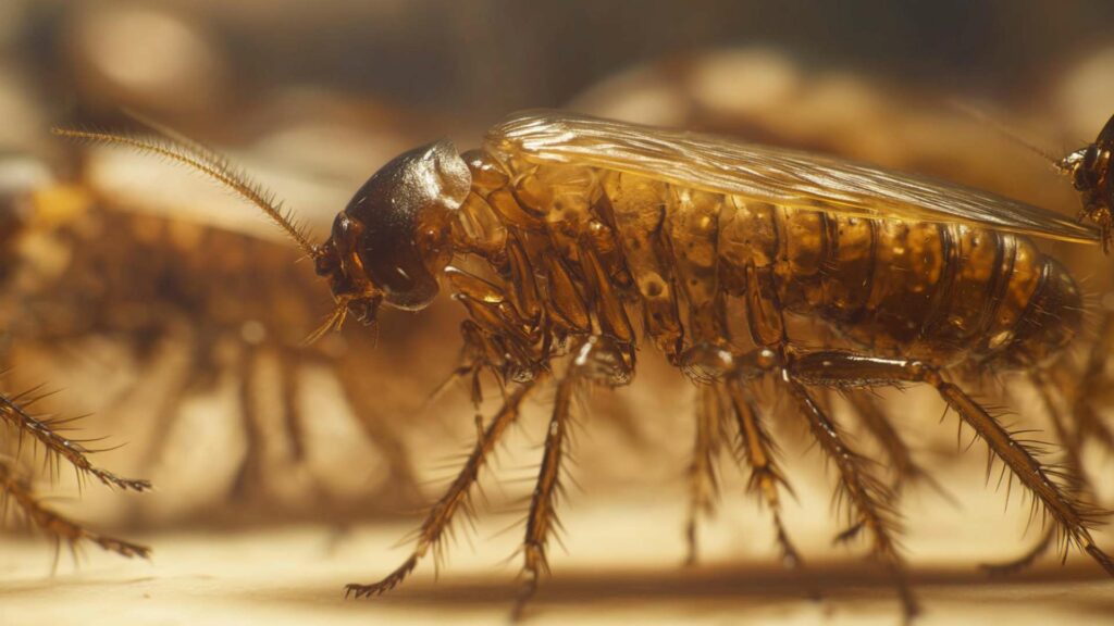
M418 541L414 546L413 551L410 554L402 565L400 565L394 571L389 574L385 578L379 583L371 585L348 585L344 588L344 596L354 595L355 597L367 597L367 596L378 596L384 591L389 591L397 587L400 583L405 580L407 576L414 570L418 566L418 560L429 552L430 548L434 552L440 548L441 539L444 538L444 531L449 529L452 522L453 515L463 508L466 511L470 509L469 492L472 485L479 478L480 469L487 464L488 458L495 451L496 444L499 442L499 438L502 437L504 432L515 423L518 419L519 411L521 409L522 401L526 397L538 387L546 379L546 373L541 372L532 381L528 383L522 383L511 393L507 401L504 403L499 412L491 418L490 423L488 423L487 429L480 434L476 440L476 447L472 449L468 459L465 461L465 466L460 469L460 473L449 486L448 491L441 496L429 510L426 516L426 520L422 521L421 528L418 530Z

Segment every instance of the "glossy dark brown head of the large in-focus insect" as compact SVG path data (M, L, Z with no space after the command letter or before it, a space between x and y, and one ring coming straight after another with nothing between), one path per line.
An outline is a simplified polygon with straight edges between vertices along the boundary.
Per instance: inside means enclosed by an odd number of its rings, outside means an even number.
M449 141L400 155L360 187L316 250L333 297L365 323L381 302L416 311L432 302L452 255L450 218L471 175Z

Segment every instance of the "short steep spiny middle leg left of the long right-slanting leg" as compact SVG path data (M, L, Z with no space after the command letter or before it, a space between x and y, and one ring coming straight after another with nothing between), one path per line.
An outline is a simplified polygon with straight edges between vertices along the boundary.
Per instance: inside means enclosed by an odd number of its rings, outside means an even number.
M742 381L732 380L729 383L731 404L739 427L743 458L751 467L749 488L770 508L773 516L774 532L778 546L781 548L782 563L788 567L798 567L803 561L800 552L793 546L781 520L781 493L779 486L792 493L785 477L774 461L774 444L766 432L758 412L758 403L751 390Z

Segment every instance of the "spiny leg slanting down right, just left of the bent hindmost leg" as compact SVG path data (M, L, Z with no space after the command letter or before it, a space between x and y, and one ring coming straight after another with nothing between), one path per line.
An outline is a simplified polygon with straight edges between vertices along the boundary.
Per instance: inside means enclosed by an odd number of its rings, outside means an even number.
M831 459L840 476L840 488L850 499L857 519L851 527L837 537L846 541L856 537L863 528L873 539L872 556L883 561L893 575L898 597L907 620L920 613L917 598L909 587L901 556L893 535L898 532L896 513L892 510L893 493L878 478L870 473L869 461L851 449L843 440L839 427L823 412L808 389L793 378L791 372L782 380L790 395L797 401L801 414L809 423L821 450Z

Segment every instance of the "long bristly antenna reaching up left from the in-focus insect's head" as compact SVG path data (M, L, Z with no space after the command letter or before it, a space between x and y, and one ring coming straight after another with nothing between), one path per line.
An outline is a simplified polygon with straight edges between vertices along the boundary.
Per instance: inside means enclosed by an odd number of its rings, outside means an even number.
M236 170L227 159L209 148L187 139L165 126L150 123L140 117L136 117L136 119L140 124L148 126L155 133L155 136L136 137L71 128L51 128L51 133L60 137L82 141L126 146L141 153L166 157L201 172L260 207L311 258L316 258L320 255L317 247L310 242L304 229L294 223L291 212L283 208L282 203L275 199L274 194L264 189L262 185L248 178L244 173Z

